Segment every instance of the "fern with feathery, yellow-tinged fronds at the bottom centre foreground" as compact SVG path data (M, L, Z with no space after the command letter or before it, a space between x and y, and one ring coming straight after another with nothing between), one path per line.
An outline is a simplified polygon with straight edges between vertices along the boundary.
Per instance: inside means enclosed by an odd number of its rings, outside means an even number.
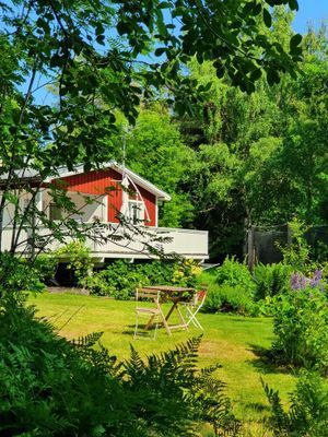
M197 368L200 342L194 338L147 362L131 349L131 358L122 364L121 380L136 393L138 416L153 435L196 436L201 422L210 423L215 436L237 435L239 423L225 385L213 378L218 366Z

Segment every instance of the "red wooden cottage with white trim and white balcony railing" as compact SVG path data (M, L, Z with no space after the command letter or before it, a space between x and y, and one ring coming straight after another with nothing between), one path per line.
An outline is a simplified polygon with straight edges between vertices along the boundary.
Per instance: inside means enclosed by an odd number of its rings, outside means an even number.
M25 178L31 178L33 184L39 182L37 175L31 172ZM164 253L178 253L185 258L208 259L208 233L206 231L163 228L159 227L159 203L169 201L171 197L145 180L136 173L112 162L104 164L101 169L84 172L80 166L73 172L59 168L56 178L43 181L36 206L43 211L50 221L62 220L62 211L52 202L49 187L58 185L65 188L68 197L77 206L77 212L70 216L83 223L103 223L113 227L122 226L121 223L132 223L148 229L149 240L154 237L164 237L165 243L157 243L157 249ZM27 193L20 194L21 202L28 201ZM4 214L4 241L10 241L12 211L7 209ZM124 227L124 226L122 226ZM37 228L39 235L44 229ZM101 231L99 228L99 232ZM124 232L126 232L124 229ZM137 234L136 234L137 235ZM108 258L142 259L149 258L147 243L142 238L133 237L132 240L116 245L108 240L103 244L87 241L92 255L103 262ZM57 244L54 243L49 250Z

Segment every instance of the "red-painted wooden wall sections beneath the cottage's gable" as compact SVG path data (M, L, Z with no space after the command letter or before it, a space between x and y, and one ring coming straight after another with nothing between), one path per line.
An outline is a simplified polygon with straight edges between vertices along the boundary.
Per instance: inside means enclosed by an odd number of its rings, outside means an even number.
M118 223L117 214L121 208L122 191L120 187L121 175L113 168L94 170L79 175L61 178L66 182L66 189L84 194L103 196L107 193L108 199L108 222ZM131 188L131 187L130 187ZM147 226L156 225L156 197L144 188L138 186L144 200L150 222L145 221ZM133 196L131 196L133 198ZM136 197L134 197L136 198ZM145 214L147 218L147 214Z

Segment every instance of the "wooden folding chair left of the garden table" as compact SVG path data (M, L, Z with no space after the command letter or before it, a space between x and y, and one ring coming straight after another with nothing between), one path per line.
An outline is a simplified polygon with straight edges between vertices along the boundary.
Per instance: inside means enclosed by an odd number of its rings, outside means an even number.
M148 288L137 288L136 291L136 329L134 335L136 339L139 330L139 318L145 316L148 321L144 327L144 331L148 331L152 324L155 324L154 336L153 340L157 336L159 329L159 319L164 318L160 306L161 293L155 290ZM165 318L164 318L165 319ZM145 332L143 332L143 336L145 338ZM140 335L140 334L139 334ZM149 336L149 339L151 339Z

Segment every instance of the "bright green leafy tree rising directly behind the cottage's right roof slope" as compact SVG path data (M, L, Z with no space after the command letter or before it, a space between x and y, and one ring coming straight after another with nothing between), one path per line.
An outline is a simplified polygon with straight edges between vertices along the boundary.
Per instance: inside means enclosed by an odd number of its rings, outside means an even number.
M172 197L160 208L160 225L186 225L192 217L192 205L179 182L191 151L183 143L167 108L161 104L142 107L126 140L127 165Z

